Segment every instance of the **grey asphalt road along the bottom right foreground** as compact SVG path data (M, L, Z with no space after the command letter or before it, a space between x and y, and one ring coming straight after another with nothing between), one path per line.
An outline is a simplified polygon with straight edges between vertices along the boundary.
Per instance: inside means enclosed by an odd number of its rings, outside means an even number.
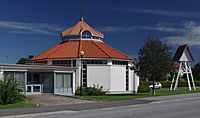
M147 104L81 111L58 111L18 116L20 118L200 118L200 97L162 100ZM9 117L10 118L10 117Z

